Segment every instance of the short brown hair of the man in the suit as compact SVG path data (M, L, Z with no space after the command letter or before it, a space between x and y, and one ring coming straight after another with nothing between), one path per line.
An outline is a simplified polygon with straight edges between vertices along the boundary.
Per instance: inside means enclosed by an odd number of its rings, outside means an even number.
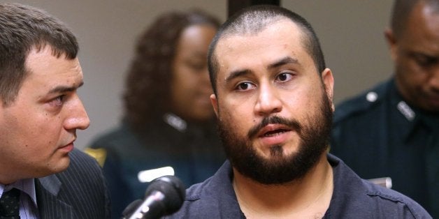
M0 3L0 98L8 106L20 91L29 70L32 49L50 45L54 56L75 59L78 42L64 23L43 10L18 3Z

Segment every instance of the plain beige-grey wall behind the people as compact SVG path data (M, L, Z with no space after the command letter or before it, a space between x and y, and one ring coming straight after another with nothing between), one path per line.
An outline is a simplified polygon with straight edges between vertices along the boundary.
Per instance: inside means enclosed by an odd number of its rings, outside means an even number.
M83 149L122 116L122 89L138 35L157 15L175 9L201 8L223 22L227 0L16 0L42 8L68 24L80 43L85 84L79 90L91 120L78 131ZM305 17L314 27L335 77L334 102L353 96L391 75L384 41L391 0L281 0L280 5ZM154 107L154 106L152 106Z

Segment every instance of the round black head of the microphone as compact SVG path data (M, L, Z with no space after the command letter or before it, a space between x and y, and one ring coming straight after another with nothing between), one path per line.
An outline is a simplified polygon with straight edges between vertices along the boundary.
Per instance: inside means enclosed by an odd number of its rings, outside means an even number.
M185 185L176 176L161 176L154 179L145 192L146 197L153 191L159 191L164 194L163 202L166 215L178 211L185 201Z

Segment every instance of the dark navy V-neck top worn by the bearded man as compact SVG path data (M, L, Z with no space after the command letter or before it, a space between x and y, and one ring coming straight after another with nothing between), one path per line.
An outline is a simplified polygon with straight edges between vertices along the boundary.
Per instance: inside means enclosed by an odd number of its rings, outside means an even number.
M324 218L431 218L422 206L401 193L360 179L340 159L333 167L333 195ZM217 173L187 189L180 211L168 218L245 218L232 186L229 161Z

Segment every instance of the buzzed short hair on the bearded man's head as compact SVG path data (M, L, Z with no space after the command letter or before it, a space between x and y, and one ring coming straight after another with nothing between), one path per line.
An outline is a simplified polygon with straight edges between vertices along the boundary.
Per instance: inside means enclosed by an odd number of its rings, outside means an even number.
M230 35L258 33L267 25L270 25L282 18L292 20L292 22L298 24L298 27L301 28L304 33L304 38L302 39L303 46L305 47L305 50L307 50L308 54L310 54L312 57L318 73L322 73L322 71L326 68L326 65L319 39L317 38L314 29L312 29L311 25L305 20L305 18L290 10L278 6L250 6L238 11L238 13L234 14L229 18L229 20L224 22L224 24L219 27L217 34L212 40L212 43L210 43L208 52L208 68L210 83L212 84L215 95L217 94L216 79L217 72L219 70L217 57L215 56L215 47L217 46L218 41Z

